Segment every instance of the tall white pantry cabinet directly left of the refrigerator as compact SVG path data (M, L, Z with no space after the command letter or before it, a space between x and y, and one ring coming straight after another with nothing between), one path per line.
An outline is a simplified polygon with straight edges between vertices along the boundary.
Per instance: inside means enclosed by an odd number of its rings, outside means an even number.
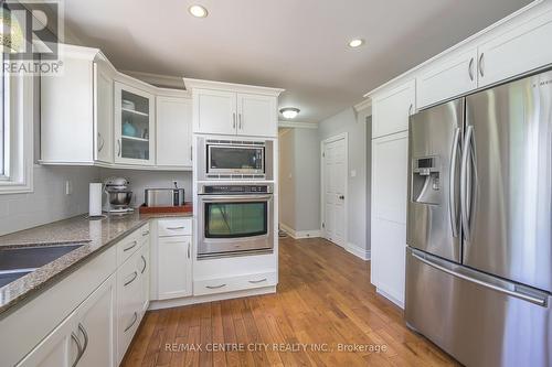
M400 306L404 303L408 118L415 109L415 80L372 97L371 281Z

